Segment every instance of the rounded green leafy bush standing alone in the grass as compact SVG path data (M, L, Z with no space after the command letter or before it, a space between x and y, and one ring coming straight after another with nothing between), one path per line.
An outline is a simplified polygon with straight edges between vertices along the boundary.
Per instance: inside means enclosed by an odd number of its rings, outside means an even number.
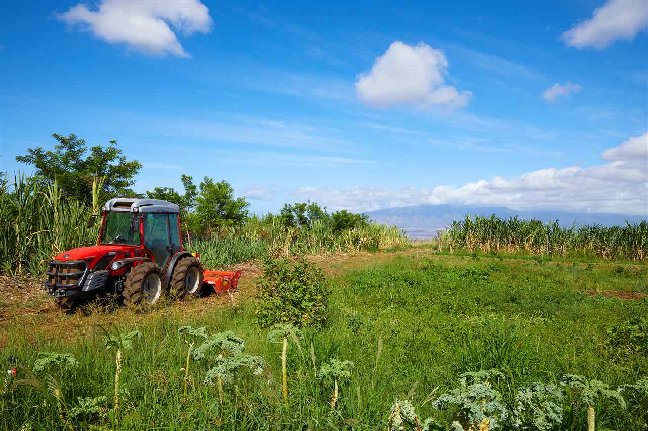
M329 303L330 288L321 269L305 258L292 266L286 259L264 261L257 279L257 324L294 326L321 324Z

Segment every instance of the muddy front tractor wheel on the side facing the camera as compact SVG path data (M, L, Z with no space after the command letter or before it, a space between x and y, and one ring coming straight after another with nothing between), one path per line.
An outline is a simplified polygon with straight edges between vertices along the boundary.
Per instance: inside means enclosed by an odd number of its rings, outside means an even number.
M164 274L154 262L140 263L132 268L124 282L124 305L139 307L156 304L164 293Z

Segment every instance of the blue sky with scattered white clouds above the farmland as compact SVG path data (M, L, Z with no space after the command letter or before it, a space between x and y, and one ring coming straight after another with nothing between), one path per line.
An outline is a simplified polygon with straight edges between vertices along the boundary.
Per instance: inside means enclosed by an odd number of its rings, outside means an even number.
M648 5L10 1L0 170L115 139L255 212L497 204L648 215Z

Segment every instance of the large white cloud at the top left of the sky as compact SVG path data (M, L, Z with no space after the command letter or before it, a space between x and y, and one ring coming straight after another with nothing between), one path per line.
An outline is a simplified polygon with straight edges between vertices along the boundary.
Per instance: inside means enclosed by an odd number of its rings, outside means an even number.
M176 32L208 33L212 27L209 9L200 0L102 0L97 10L79 3L56 16L70 25L86 26L108 43L179 57L190 55L180 45Z

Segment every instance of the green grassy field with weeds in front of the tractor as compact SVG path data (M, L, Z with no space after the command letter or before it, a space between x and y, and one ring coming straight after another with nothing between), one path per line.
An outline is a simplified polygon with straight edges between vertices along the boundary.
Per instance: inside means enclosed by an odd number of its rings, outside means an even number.
M332 286L329 318L324 327L305 329L299 346L288 343L287 401L282 345L255 326L254 271L248 271L234 303L210 296L140 314L17 310L4 316L2 357L16 357L19 371L0 395L0 427L385 430L392 405L408 399L421 421L432 417L441 426L435 429L447 430L455 410L433 404L458 388L466 371L502 371L505 378L492 388L509 412L516 388L531 382L559 384L563 375L576 374L615 389L648 377L648 335L642 326L636 330L636 318L648 316L644 264L500 260L429 248L319 264ZM210 334L234 331L245 340L245 353L265 359L265 370L236 373L224 384L221 405L217 385L203 384L213 364L191 357L186 371L189 345L178 333L185 325ZM102 339L130 331L141 338L121 349L116 415L115 348ZM69 353L78 366L34 372L39 352ZM340 379L335 408L333 382L314 372L330 359L354 364L350 377ZM93 408L86 397L104 398ZM621 409L601 399L594 405L596 429L645 429L646 402L638 398ZM555 429L586 429L585 406L567 396L562 409Z

